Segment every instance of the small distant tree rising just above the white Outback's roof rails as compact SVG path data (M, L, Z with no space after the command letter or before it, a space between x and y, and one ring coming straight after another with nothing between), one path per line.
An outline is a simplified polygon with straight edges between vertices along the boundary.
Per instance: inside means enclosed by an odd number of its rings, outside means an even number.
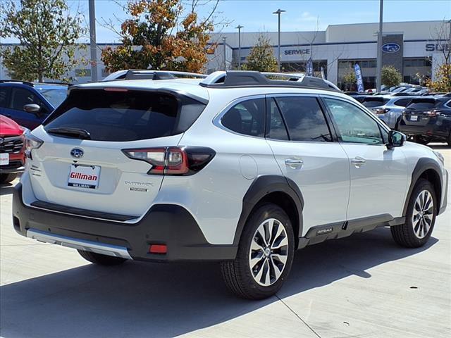
M252 47L249 56L247 56L247 63L242 68L244 70L257 70L259 72L278 71L277 60L268 38L264 35L260 35L257 38L257 44Z

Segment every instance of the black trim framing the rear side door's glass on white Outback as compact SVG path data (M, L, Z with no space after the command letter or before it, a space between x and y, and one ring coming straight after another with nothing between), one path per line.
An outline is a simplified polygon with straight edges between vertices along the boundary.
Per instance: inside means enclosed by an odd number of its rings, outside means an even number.
M319 94L310 94L310 93L275 93L275 94L266 94L266 99L276 99L276 97L314 97L316 98L316 101L318 101L318 105L319 108L321 108L321 111L323 112L324 115L324 120L326 120L326 125L329 129L329 133L330 136L332 137L332 140L329 142L323 142L323 141L296 141L296 140L292 140L290 137L290 132L288 131L288 127L287 124L285 123L285 118L283 117L282 112L280 111L279 105L276 101L276 105L278 107L280 116L282 116L282 120L283 120L283 124L285 125L285 130L287 131L288 134L288 140L287 139L271 139L270 137L268 137L267 133L265 135L266 139L270 139L271 141L278 141L278 142L290 142L290 143L309 143L309 144L330 144L333 142L338 142L338 134L336 134L335 132L335 126L332 123L332 120L330 119L330 115L328 113L328 111L326 110L326 106L324 105L323 101L320 98ZM335 97L335 96L332 96ZM268 103L266 104L266 121L268 121L268 118L271 118L271 116L268 116L270 114L270 111L268 110ZM266 125L269 125L268 123L266 123ZM269 132L267 130L267 132Z

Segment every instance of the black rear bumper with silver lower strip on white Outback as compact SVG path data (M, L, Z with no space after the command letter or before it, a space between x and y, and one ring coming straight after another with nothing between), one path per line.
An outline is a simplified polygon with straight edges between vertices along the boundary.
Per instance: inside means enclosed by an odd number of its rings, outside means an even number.
M182 206L158 204L135 224L97 220L26 206L22 184L13 194L13 226L19 234L42 242L140 261L226 261L237 246L206 242L192 215ZM149 253L166 244L167 253Z

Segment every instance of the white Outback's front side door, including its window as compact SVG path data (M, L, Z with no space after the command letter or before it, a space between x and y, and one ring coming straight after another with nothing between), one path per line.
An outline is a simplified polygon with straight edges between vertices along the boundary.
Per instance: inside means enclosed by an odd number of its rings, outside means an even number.
M407 191L407 161L388 149L388 132L371 113L344 99L324 96L342 148L350 158L347 219L389 214L399 217Z

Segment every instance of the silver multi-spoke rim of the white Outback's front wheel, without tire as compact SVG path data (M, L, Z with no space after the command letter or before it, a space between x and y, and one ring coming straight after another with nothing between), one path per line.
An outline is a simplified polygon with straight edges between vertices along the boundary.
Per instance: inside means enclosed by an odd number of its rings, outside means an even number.
M416 197L412 213L412 227L419 239L426 237L431 228L434 216L434 202L428 190L423 190Z

